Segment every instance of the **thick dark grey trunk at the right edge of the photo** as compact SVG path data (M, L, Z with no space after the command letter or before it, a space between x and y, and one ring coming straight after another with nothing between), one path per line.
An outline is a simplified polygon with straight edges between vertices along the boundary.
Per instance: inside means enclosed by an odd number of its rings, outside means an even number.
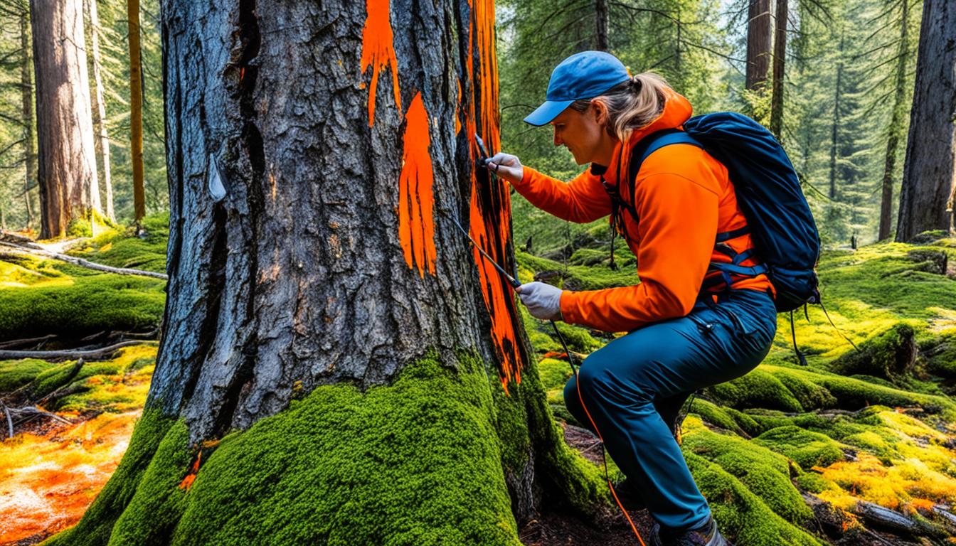
M897 241L952 229L956 163L956 2L925 0L903 164Z

